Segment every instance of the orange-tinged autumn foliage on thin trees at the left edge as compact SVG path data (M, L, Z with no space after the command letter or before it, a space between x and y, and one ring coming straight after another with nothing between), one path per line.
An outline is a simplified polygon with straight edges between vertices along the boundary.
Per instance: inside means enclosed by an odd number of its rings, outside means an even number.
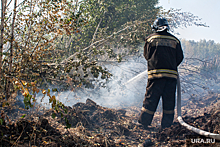
M52 108L59 111L63 104L50 95L49 89L40 86L48 70L45 66L52 60L55 39L62 34L74 34L85 25L83 9L78 3L66 0L27 0L19 5L15 0L13 11L8 14L10 3L2 2L1 106L12 99L12 93L20 91L29 109L36 102L36 94L42 91L50 97Z

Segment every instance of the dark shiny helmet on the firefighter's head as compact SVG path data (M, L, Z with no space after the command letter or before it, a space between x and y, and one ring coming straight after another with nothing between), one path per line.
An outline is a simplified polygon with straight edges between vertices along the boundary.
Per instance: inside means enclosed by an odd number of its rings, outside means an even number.
M170 27L168 25L168 21L165 18L161 18L161 17L157 18L151 27L156 32L162 32L166 29L169 31L169 29L170 29Z

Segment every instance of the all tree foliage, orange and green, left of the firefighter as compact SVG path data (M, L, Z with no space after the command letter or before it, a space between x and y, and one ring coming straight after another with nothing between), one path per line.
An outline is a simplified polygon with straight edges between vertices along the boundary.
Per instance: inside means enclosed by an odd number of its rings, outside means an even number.
M1 31L3 43L0 54L3 61L1 105L4 107L8 104L12 99L11 94L19 91L24 96L25 107L29 109L36 102L36 94L41 91L44 96L49 97L49 103L57 112L63 104L54 95L50 95L50 89L46 90L47 83L65 83L74 90L82 84L87 83L90 86L90 79L98 78L100 73L101 79L108 79L111 74L98 65L97 58L108 54L109 58L121 61L122 55L113 52L113 45L118 43L114 41L121 38L119 40L125 45L127 41L130 44L135 43L135 32L138 29L139 32L140 29L149 31L149 27L145 26L149 26L158 11L154 7L156 0L149 0L150 3L91 0L81 1L80 4L78 1L73 3L66 0L32 0L23 1L19 5L14 1L14 9L8 14L9 4L6 5L4 0L2 2L5 5L2 5L1 19L1 27L4 29ZM148 5L145 8L140 4ZM136 9L137 6L143 11ZM147 11L153 15L148 14L152 19L145 21L143 18ZM142 32L142 36L145 32ZM67 42L69 44L63 47L62 40L66 38L70 39ZM105 46L97 48L103 43ZM85 47L88 50L82 49ZM74 60L63 61L67 55L73 53ZM68 121L66 122L68 125Z

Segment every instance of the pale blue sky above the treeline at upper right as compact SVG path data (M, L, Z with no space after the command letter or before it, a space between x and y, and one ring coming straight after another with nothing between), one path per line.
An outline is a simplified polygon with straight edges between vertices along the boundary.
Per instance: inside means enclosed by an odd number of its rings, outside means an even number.
M220 0L159 0L159 6L165 10L175 8L191 12L209 26L180 28L176 30L180 33L176 37L195 41L214 40L215 43L220 43Z

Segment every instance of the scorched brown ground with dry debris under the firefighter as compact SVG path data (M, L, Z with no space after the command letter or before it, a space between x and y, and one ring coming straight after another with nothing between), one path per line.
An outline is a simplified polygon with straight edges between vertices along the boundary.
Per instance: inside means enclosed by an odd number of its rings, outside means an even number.
M63 117L61 114L56 114L54 119L51 117L53 110L47 110L42 115L32 113L14 122L2 113L1 117L5 121L0 125L1 146L133 147L141 146L143 142L148 146L196 146L187 139L188 135L196 134L180 126L176 116L170 128L159 130L161 113L156 112L152 126L145 130L136 124L140 113L139 107L110 109L87 99L86 103L77 103L66 108L67 114L63 113ZM219 110L220 94L209 94L183 103L183 120L202 130L219 134ZM9 111L4 110L4 112ZM69 129L66 129L65 117L71 124ZM212 144L202 145L218 146L220 144L215 141Z

